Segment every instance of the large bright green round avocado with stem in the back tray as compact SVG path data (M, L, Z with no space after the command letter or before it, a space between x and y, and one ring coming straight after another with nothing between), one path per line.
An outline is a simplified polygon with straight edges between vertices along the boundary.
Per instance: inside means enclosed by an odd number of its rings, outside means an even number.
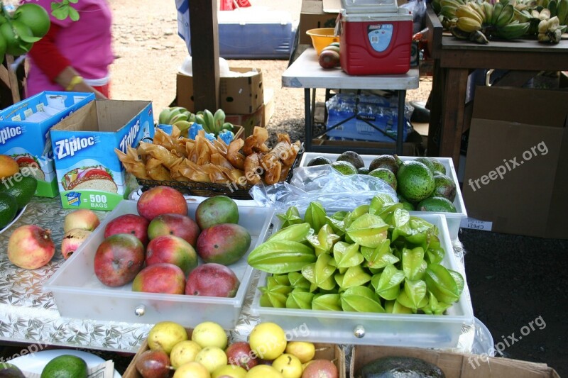
M434 191L434 174L422 162L416 160L401 161L395 155L398 164L396 179L398 192L410 202L420 202Z

